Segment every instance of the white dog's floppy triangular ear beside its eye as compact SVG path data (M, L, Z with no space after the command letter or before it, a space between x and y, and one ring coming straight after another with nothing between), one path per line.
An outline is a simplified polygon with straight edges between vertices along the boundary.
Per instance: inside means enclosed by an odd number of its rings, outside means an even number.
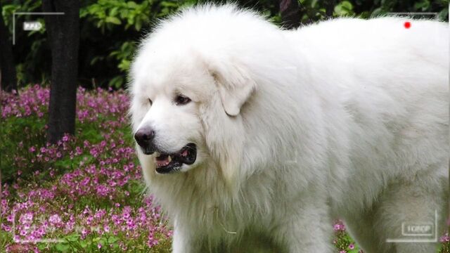
M239 64L211 65L210 72L217 84L221 103L229 116L236 116L256 89L255 81Z

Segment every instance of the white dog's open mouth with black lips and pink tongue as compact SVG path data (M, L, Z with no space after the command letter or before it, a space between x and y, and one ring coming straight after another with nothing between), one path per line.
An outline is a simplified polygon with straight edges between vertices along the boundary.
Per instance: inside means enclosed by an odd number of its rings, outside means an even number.
M185 145L177 153L156 153L155 163L156 172L160 174L167 174L172 171L179 171L183 164L191 165L197 158L197 147L194 143Z

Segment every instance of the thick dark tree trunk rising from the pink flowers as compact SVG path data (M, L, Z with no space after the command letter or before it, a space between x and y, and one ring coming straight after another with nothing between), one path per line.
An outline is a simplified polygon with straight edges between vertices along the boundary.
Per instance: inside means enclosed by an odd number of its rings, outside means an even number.
M47 141L56 143L64 134L75 134L77 103L79 1L43 0L47 37L51 48L51 84Z

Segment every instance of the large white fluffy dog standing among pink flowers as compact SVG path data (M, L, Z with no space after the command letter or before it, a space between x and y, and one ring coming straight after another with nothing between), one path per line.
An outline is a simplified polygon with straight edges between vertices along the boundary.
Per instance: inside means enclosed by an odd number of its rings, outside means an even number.
M435 251L449 196L449 29L405 21L284 31L231 5L163 21L130 93L173 252L333 252L337 218L365 252ZM431 234L405 236L416 228Z

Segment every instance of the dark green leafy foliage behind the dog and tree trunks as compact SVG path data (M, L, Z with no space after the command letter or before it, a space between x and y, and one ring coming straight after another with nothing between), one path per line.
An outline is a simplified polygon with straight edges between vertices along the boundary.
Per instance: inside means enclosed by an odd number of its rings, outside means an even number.
M389 12L437 12L441 20L448 20L449 0L298 0L302 23L326 18L358 16L371 18ZM186 6L214 0L81 0L79 46L79 82L84 87L123 88L127 83L129 63L139 41L151 30L158 19ZM41 11L41 0L0 0L2 15L13 32L14 12ZM243 7L254 8L269 20L281 24L278 1L236 1ZM331 15L326 13L332 12ZM426 17L430 18L430 16ZM39 32L25 32L20 25L25 20L38 20L44 25L44 16L16 16L16 45L13 48L20 84L46 83L51 71L49 45L45 27ZM11 36L12 37L12 36Z

